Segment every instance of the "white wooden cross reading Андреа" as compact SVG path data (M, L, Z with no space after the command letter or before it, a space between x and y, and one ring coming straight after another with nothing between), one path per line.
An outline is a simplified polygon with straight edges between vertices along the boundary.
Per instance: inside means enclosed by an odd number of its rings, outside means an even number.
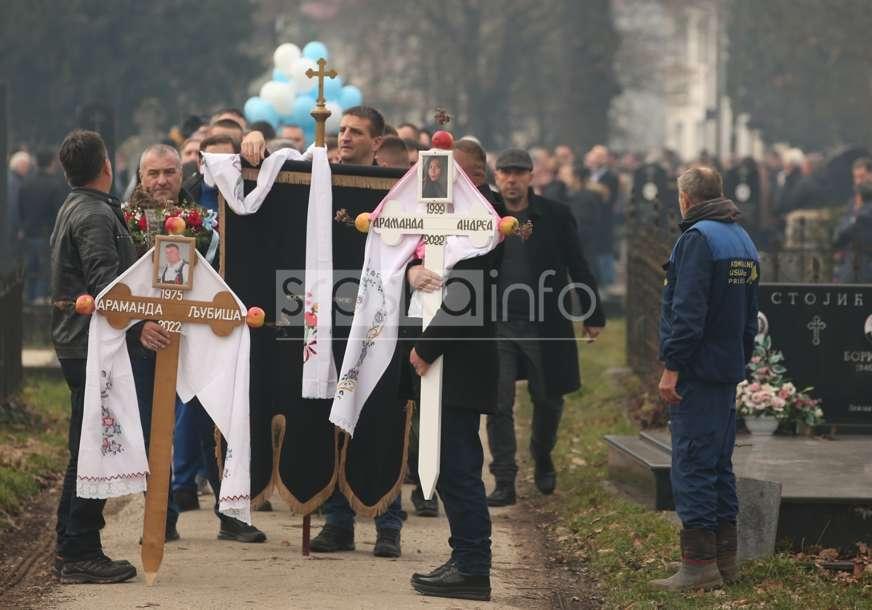
M448 157L448 182L454 178L454 159L451 152L441 153ZM424 157L426 158L426 157ZM449 187L449 197L452 189ZM445 199L438 202L421 199L426 206L423 214L409 214L403 211L399 201L385 202L378 217L372 221L372 230L378 233L386 245L395 246L406 235L424 237L424 267L445 274L444 248L448 237L464 236L477 248L485 247L495 239L495 220L484 206L473 206L468 215L450 213ZM421 292L424 328L430 325L442 305L442 290ZM442 449L442 357L436 359L421 377L420 436L418 444L418 475L424 497L433 497L436 481L439 479L439 458Z

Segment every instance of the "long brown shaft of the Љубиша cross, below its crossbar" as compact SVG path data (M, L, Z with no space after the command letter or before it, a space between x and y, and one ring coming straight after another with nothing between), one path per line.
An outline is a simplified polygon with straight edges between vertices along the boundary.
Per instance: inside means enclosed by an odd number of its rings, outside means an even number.
M179 338L179 333L170 333L170 344L157 352L154 370L154 402L148 452L149 476L142 528L142 567L145 570L145 581L149 585L153 585L157 578L166 540L170 460L173 451L173 428L176 422Z

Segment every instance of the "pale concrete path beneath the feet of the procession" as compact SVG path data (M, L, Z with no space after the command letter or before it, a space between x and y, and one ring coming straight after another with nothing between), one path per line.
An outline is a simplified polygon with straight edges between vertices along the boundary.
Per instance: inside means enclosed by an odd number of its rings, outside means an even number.
M403 507L411 512L411 486L404 486ZM201 498L206 506L211 496ZM116 506L124 500L113 500ZM402 533L403 556L372 555L375 526L360 520L357 550L348 553L300 554L300 517L272 500L275 510L254 513L255 525L267 534L263 544L225 542L216 538L218 521L209 510L183 513L181 540L167 545L157 583L142 576L138 540L143 501L128 500L107 518L104 547L113 558L137 566L136 579L120 585L60 586L49 607L82 608L536 608L550 607L553 589L537 556L538 536L520 506L492 511L494 566L491 603L423 597L409 585L416 571L429 571L449 555L448 522L409 515ZM107 506L107 509L111 507ZM313 518L313 536L321 526ZM519 528L519 523L523 527ZM532 531L530 531L532 530Z

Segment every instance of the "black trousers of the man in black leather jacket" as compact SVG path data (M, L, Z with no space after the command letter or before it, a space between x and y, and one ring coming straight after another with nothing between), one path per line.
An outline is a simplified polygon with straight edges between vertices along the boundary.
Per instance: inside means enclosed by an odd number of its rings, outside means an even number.
M61 370L70 388L70 460L64 474L61 501L58 505L57 554L65 561L96 559L103 554L100 530L103 529L103 506L106 500L76 496L76 471L79 467L79 439L85 410L85 359L64 358Z

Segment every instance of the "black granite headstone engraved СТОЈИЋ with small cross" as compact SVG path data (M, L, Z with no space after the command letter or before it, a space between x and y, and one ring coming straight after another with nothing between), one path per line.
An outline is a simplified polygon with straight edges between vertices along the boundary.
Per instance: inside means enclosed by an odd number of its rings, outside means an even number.
M760 311L797 388L828 424L872 426L872 286L761 284Z

